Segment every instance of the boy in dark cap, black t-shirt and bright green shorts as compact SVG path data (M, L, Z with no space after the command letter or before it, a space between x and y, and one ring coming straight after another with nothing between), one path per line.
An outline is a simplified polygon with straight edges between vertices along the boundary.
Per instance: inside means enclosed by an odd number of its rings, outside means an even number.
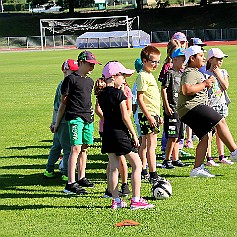
M85 194L82 187L94 187L94 184L85 177L87 146L93 144L93 109L91 93L94 82L88 77L93 71L95 56L89 51L83 51L78 56L79 69L67 76L61 86L61 104L55 124L57 131L62 114L68 121L71 152L68 158L68 183L63 190L68 194ZM76 164L78 165L78 182L75 179Z

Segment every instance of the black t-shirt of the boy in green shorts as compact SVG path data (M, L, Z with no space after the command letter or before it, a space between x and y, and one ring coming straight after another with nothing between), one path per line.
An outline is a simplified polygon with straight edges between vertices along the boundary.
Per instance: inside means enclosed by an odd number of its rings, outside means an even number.
M65 77L61 86L61 94L68 96L65 109L67 121L77 117L86 122L94 121L91 93L94 82L90 77L82 77L77 73Z

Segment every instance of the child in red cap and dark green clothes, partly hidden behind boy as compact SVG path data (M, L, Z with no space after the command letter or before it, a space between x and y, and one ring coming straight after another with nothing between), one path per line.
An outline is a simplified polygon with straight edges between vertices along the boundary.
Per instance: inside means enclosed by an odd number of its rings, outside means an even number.
M62 71L64 74L64 77L67 77L71 73L78 70L78 64L76 61L72 59L66 60L62 65ZM52 123L50 125L51 132L54 132L54 126L56 123L56 117L60 105L61 100L61 81L57 87L55 97L54 97L54 110L53 110L53 118ZM68 124L65 120L65 114L63 114L63 117L60 121L59 127L57 131L54 133L53 136L53 145L50 149L49 156L48 156L48 163L46 164L46 171L44 172L44 177L46 178L54 178L56 174L54 173L54 165L57 162L61 150L63 149L63 170L62 170L62 180L67 181L67 163L68 163L68 157L70 154L71 146L70 146L70 138L69 138L69 131L68 131Z

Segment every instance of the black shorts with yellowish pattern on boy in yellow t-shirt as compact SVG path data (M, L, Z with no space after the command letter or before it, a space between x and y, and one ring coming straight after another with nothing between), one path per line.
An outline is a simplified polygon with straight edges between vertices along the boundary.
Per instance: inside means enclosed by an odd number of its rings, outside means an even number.
M156 120L156 123L157 123L157 126L156 127L151 127L148 120L147 120L147 117L143 114L143 113L139 113L138 114L138 120L139 120L139 124L140 124L140 127L141 127L141 134L142 135L147 135L149 133L158 133L160 132L160 127L159 127L159 116L156 115L156 116L153 116L154 119Z

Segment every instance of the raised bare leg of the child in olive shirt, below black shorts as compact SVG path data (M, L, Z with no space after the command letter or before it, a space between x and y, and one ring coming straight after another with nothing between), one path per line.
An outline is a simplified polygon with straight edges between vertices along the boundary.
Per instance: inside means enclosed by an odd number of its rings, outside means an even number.
M217 125L216 125L217 133L222 140L222 142L228 147L230 152L236 150L237 146L234 142L234 139L230 133L229 127L226 123L225 118L223 118Z

